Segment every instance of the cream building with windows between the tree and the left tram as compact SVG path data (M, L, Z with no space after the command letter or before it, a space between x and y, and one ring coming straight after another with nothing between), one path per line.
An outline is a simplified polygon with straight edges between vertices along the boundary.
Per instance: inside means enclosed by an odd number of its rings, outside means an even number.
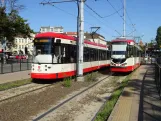
M31 38L24 38L19 35L14 39L14 46L12 48L12 52L19 54L20 51L25 54L25 47L27 47L29 54L33 53L33 40L36 34L31 34Z

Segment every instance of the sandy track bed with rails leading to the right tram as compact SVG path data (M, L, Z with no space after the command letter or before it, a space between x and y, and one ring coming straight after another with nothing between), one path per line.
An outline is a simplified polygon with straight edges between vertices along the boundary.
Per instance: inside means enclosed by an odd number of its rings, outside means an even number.
M101 87L101 85L102 84L105 84L105 82L107 82L108 83L108 81L109 80L111 80L112 79L112 76L113 76L114 74L113 73L111 73L110 75L108 75L108 76L106 76L106 77L103 77L102 79L100 79L99 81L97 81L96 83L94 83L94 84L92 84L91 86L89 86L89 87L87 87L87 88L85 88L85 89L83 89L83 90L81 90L80 92L78 92L78 93L76 93L76 94L74 94L74 95L72 95L71 97L69 97L69 98L67 98L67 99L65 99L65 100L63 100L62 102L60 102L59 104L57 104L57 105L55 105L54 107L52 107L51 109L49 109L48 111L45 111L44 113L41 113L41 114L39 114L39 116L38 117L34 117L32 120L33 121L43 121L43 120L53 120L54 119L54 121L57 121L57 120L67 120L67 117L68 118L73 118L73 117L71 117L71 116L65 116L65 114L64 113L62 113L61 112L61 110L66 110L65 109L65 107L70 107L69 105L71 104L71 105L77 105L77 103L74 103L73 102L73 100L77 100L76 102L81 102L80 100L80 97L82 97L82 98L88 98L88 96L90 95L90 97L91 97L91 95L92 95L92 91L94 91L95 89L94 88L100 88ZM124 78L125 78L126 76L124 76ZM111 79L109 79L109 78L111 78ZM113 78L115 78L115 76L113 76ZM109 79L109 80L108 80ZM102 83L102 84L101 84ZM98 86L99 85L99 86ZM111 88L111 87L109 87L109 88ZM108 88L108 89L109 89ZM108 97L108 96L110 96L110 94L111 93L107 93L106 94L106 97ZM83 96L82 96L83 95ZM98 98L97 98L98 99ZM100 100L101 100L101 98L100 98ZM104 100L105 101L105 100ZM100 109L100 107L103 105L103 102L104 101L102 101L101 103L99 103L99 104L96 104L97 106L95 106L95 108L96 109L92 109L92 110L90 110L90 112L92 112L93 110L93 114L90 114L90 115L93 115L92 117L90 117L90 119L92 120L92 119L94 119L94 117L95 117L95 115L96 115L96 113L98 112L98 110ZM87 108L86 109L88 109L88 107L89 107L89 109L90 109L90 106L88 106L88 104L85 104L85 103L83 103L83 101L82 101L82 104L83 105L86 105L87 106ZM92 104L92 103L91 103ZM93 103L94 104L94 103ZM65 106L65 105L67 105L67 106ZM95 105L95 104L94 104ZM76 106L76 107L78 107L78 108L80 108L81 106L79 106L79 104L78 104L78 106ZM71 106L71 108L72 108L72 106ZM59 110L60 109L60 110ZM72 108L72 110L76 110L75 108ZM72 113L72 110L66 110L65 112L67 113ZM75 111L76 112L76 111ZM89 112L89 111L88 111ZM75 115L75 114L73 114L73 115ZM81 120L87 120L87 119L82 119L82 117L81 117L81 115L82 114L79 114L79 115L77 115L77 116L75 116L75 117L77 117L76 118L76 120L78 121L78 119L80 118ZM84 115L84 114L83 114ZM64 119L60 119L60 118L58 118L58 117L64 117ZM89 118L89 117L88 117ZM69 119L69 120L71 120L71 119ZM72 120L74 120L74 119L72 119ZM80 121L81 121L80 120Z

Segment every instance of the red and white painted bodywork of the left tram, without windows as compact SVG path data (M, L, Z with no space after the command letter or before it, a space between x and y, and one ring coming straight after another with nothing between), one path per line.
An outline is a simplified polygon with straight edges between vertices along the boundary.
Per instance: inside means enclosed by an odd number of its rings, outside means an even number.
M39 34L40 38L44 37L45 34ZM47 36L46 36L47 35ZM61 34L56 34L56 33L49 33L46 34L45 37L49 37L49 38L54 38L55 40L52 40L52 42L54 42L54 44L57 44L57 40L59 41L60 44L65 44L67 47L70 46L75 46L76 45L76 41L74 37L69 37L66 35L61 35ZM39 37L37 37L39 39ZM59 44L58 43L58 44ZM52 44L52 43L51 43ZM60 48L59 48L59 47ZM71 56L67 56L70 57L68 58L70 60L70 62L65 62L63 60L63 58L66 59L66 55L68 55L68 51L70 50L66 50L66 46L54 46L53 49L53 53L54 54L40 54L40 55L36 55L34 58L34 63L32 64L31 67L31 78L37 78L37 79L57 79L57 78L64 78L64 77L68 77L68 76L74 76L76 75L76 63L75 61L71 61L72 55ZM107 43L104 42L103 40L99 43L94 43L91 41L85 41L84 42L84 47L88 48L88 49L95 49L95 50L100 50L101 51L108 51L107 48ZM46 51L46 50L45 50ZM76 51L76 50L72 50L72 51ZM57 54L57 52L60 53ZM88 52L88 51L87 51ZM95 54L97 53L96 51ZM63 54L62 54L63 53ZM70 50L71 53L71 50ZM89 52L88 52L89 53ZM102 53L103 54L103 53ZM98 53L96 54L98 57L100 55L98 55ZM96 57L96 55L94 57ZM87 56L86 56L87 57ZM101 55L102 57L102 55ZM103 56L104 57L104 56ZM100 57L99 57L100 58ZM94 61L94 59L96 59L97 61ZM68 61L68 60L67 60ZM100 69L101 67L107 67L110 66L110 59L109 60L98 60L98 58L93 58L93 61L89 61L87 60L87 62L85 61L83 63L83 73L86 72L91 72L97 69Z

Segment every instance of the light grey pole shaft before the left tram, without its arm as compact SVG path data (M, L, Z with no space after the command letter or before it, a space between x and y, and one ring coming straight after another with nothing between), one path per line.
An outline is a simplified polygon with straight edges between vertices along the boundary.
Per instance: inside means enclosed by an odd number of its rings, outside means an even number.
M77 81L84 81L83 77L83 45L84 45L84 0L79 3L79 38L77 45Z

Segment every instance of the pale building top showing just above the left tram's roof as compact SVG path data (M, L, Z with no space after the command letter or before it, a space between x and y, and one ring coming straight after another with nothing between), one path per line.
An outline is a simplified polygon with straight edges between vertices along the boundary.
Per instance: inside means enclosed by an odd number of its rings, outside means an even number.
M55 32L55 33L63 33L63 27L51 27L51 26L44 26L40 28L40 33L43 32Z

